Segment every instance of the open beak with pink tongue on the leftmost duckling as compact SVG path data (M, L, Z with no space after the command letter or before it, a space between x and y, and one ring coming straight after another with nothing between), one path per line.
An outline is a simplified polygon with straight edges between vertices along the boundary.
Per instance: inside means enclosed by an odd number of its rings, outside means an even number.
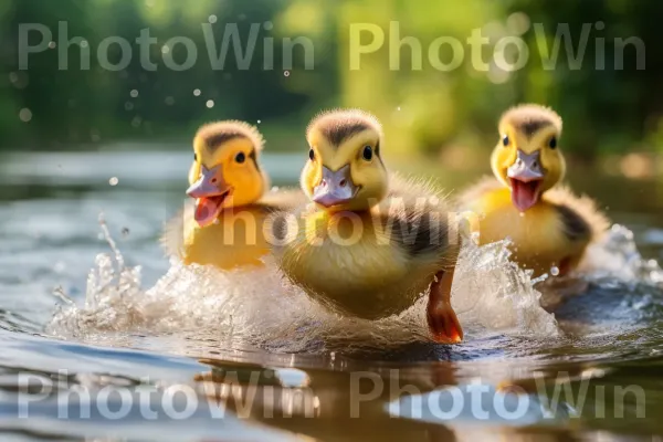
M223 180L220 165L211 169L202 166L200 178L187 189L187 194L196 198L196 222L200 227L214 222L231 191L232 188Z

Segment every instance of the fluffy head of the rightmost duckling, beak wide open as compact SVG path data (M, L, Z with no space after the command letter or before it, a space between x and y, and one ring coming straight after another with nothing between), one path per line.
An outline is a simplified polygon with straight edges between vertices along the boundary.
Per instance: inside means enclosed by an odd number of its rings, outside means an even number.
M495 176L511 188L512 201L519 211L535 206L564 178L560 136L561 118L550 108L526 104L502 116L491 165Z

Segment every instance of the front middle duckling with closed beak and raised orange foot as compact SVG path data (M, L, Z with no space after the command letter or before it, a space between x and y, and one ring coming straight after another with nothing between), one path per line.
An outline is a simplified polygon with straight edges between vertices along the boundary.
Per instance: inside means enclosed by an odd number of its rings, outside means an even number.
M382 129L365 112L323 113L306 138L301 185L313 202L277 250L284 274L312 298L367 319L398 314L430 288L433 338L462 340L450 299L459 244L444 197L404 180L390 189Z

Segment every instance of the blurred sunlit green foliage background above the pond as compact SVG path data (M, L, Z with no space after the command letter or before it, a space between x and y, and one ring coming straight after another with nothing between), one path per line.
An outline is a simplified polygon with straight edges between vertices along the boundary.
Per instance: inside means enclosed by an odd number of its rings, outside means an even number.
M392 154L433 156L450 170L486 169L496 118L506 107L532 101L562 115L564 147L577 167L648 178L661 168L657 154L663 146L663 56L655 51L654 20L661 13L657 2L634 8L627 0L7 0L0 6L0 147L94 150L143 139L160 148L181 148L199 124L239 118L261 127L270 150L296 150L314 113L359 106L383 122ZM70 39L81 36L90 45L90 70L81 70L75 44L67 51L69 70L59 70L59 21L66 22ZM390 70L391 21L398 22L401 39L421 42L421 70L413 66L407 45L400 50L400 69ZM28 70L19 70L21 23L43 24L53 33L50 50L31 54ZM212 70L202 23L211 24L217 44L228 23L238 24L242 42L249 40L251 24L260 24L250 69L238 70L235 57L228 56L223 70ZM385 44L361 56L360 70L350 71L349 30L357 23L378 25ZM545 29L550 49L557 25L569 23L575 50L582 25L590 25L581 69L569 65L562 42L556 67L545 70L535 23ZM140 65L135 41L144 29L157 39L150 46L156 71ZM491 64L487 72L473 69L465 44L476 29L490 39L482 55ZM508 35L522 36L529 49L528 63L517 72L501 70L492 56L496 42ZM99 67L96 57L99 42L108 36L131 43L131 61L118 72ZM183 72L167 69L162 61L170 50L165 43L175 36L191 39L198 49L197 62ZM283 39L298 36L314 43L313 70L305 70L301 46L294 50L292 69L283 66ZM439 36L463 42L465 60L459 69L440 72L428 62L429 44ZM633 45L623 51L623 70L613 69L614 39L631 36L644 43L646 69L636 69ZM32 44L38 38L31 35ZM263 66L265 38L273 39L273 70ZM370 40L370 34L364 39ZM604 70L594 62L601 46ZM117 62L118 52L112 45L109 61ZM181 63L183 46L175 48L172 56ZM440 57L450 60L449 46Z

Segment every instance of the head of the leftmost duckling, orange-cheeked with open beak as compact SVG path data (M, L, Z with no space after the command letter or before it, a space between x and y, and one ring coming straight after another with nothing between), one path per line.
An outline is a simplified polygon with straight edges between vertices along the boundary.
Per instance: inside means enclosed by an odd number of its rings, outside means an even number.
M263 147L257 129L242 122L202 126L193 138L193 164L187 194L196 199L199 225L212 223L223 209L251 204L269 187L257 156Z

